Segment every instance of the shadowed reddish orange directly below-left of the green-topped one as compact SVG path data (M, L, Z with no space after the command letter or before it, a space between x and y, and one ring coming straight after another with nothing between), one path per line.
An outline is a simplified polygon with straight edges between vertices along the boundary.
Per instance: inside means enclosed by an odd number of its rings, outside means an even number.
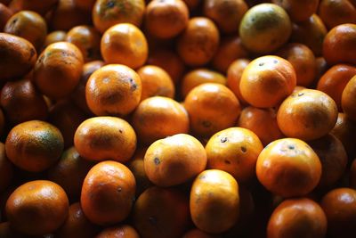
M215 70L227 73L232 62L247 57L248 52L239 37L223 37L211 63Z

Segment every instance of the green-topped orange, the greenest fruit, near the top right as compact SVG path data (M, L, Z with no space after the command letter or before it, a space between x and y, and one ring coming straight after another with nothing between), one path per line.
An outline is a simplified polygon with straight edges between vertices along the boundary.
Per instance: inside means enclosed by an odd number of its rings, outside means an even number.
M292 32L287 12L276 4L257 4L239 24L242 45L254 53L270 53L284 45Z

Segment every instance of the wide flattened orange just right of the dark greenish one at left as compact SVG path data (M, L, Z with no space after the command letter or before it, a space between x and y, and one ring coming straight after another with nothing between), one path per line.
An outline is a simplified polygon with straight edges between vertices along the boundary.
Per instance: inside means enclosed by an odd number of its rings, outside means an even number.
M136 135L124 119L95 117L77 127L74 145L86 160L126 162L136 149Z

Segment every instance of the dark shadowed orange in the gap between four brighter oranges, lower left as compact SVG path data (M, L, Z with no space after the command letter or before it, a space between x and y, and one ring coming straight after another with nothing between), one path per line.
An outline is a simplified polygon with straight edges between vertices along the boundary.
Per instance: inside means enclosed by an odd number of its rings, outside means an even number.
M69 199L77 201L85 176L92 167L93 162L85 160L76 148L70 147L61 154L58 163L48 170L48 178L61 185Z

